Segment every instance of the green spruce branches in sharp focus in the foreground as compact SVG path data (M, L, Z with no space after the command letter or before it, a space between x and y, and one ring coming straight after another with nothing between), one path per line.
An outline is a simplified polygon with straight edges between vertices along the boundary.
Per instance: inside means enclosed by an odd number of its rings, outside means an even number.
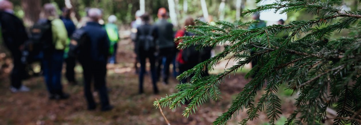
M178 79L183 79L194 74L190 83L177 85L179 92L158 102L162 107L174 109L190 100L183 113L188 117L207 100L221 99L219 86L226 77L258 60L253 68L259 69L258 73L232 101L228 111L213 124L224 125L240 112L248 115L240 124L247 124L263 111L270 120L269 124L276 124L275 121L282 114L281 100L277 95L280 85L286 85L293 94L298 94L294 103L296 109L285 124L320 124L325 120L334 120L334 124L360 124L361 10L344 11L340 4L342 0L279 0L274 4L245 10L243 15L283 9L282 13L305 11L318 16L313 20L291 21L286 25L257 29L247 29L257 22L219 21L213 26L196 21L196 26L186 27L196 35L179 38L183 39L179 49L194 45L202 49L227 43L225 49L178 76ZM348 36L331 37L343 29L351 31ZM276 36L283 33L291 35L286 39ZM225 57L231 57L237 64L223 73L201 76L205 68L213 70L213 66ZM255 73L253 69L249 74ZM258 91L264 92L256 100ZM337 116L327 115L327 108L334 104L337 104Z

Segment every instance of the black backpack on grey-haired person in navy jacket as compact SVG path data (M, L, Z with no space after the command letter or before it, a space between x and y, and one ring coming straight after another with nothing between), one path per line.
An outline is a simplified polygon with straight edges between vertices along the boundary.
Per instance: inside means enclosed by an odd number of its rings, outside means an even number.
M89 37L86 30L83 28L75 30L73 35L71 35L68 56L76 57L78 59L89 56L90 44L85 44L88 40Z

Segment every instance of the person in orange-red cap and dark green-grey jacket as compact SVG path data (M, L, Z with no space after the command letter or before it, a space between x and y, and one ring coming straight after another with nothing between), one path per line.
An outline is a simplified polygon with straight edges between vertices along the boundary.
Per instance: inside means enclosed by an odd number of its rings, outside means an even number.
M176 48L174 44L174 31L173 24L167 21L168 15L165 8L160 8L158 10L158 21L155 23L155 26L158 29L157 37L157 47L158 47L158 65L157 65L157 77L160 77L161 74L161 64L163 59L165 59L165 64L163 66L164 73L162 75L163 83L168 84L169 77L169 65L170 62L175 57Z

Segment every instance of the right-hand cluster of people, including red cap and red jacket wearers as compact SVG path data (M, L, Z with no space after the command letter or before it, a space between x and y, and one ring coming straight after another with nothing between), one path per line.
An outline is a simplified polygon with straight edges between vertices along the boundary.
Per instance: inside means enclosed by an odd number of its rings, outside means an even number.
M136 13L137 16L137 13ZM138 14L140 16L140 14ZM170 64L173 63L173 69L179 69L178 74L193 68L199 62L209 59L211 56L210 47L203 50L196 50L195 47L187 48L186 50L178 50L179 43L174 41L174 38L181 36L192 36L194 34L188 33L184 28L175 32L173 24L168 21L168 13L165 8L160 8L157 13L158 20L154 25L150 24L149 14L145 13L140 18L137 18L132 23L132 27L136 28L136 35L134 37L136 60L140 62L139 72L139 93L142 94L143 82L145 74L145 60L148 58L151 66L151 78L153 84L153 92L159 92L157 82L162 80L164 84L168 84L170 77ZM138 22L138 23L137 23ZM142 23L139 23L142 22ZM193 18L188 17L184 26L194 25ZM176 72L173 70L173 72ZM208 75L208 70L203 73ZM162 79L160 79L162 78ZM187 79L180 81L186 83Z

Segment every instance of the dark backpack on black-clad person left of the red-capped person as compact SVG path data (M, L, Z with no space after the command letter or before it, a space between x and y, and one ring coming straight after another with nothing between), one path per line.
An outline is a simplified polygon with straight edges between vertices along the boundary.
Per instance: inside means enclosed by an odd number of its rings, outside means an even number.
M146 34L144 30L141 30L140 28L138 28L142 35L138 36L138 41L137 41L137 47L139 48L143 48L145 51L148 51L151 48L155 48L156 45L154 43L154 36L153 36L153 27L151 27L148 31L148 33Z

